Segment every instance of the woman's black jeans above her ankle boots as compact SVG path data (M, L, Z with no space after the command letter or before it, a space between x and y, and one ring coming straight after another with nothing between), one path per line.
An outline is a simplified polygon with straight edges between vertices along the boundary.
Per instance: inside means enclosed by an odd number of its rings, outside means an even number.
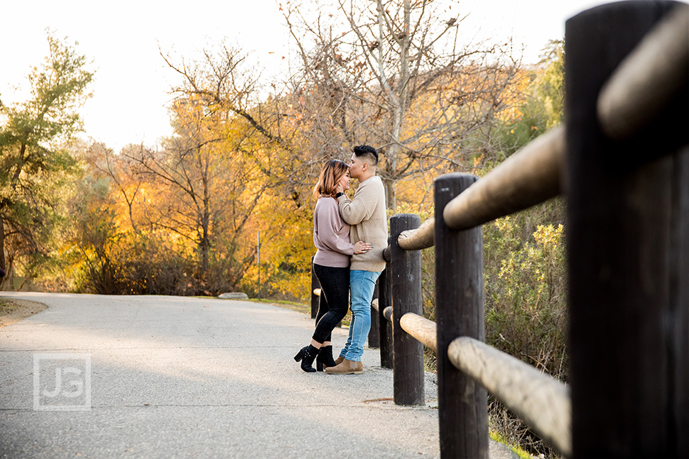
M330 341L332 329L340 323L349 309L349 267L314 263L313 272L320 282L320 300L313 339L322 344Z

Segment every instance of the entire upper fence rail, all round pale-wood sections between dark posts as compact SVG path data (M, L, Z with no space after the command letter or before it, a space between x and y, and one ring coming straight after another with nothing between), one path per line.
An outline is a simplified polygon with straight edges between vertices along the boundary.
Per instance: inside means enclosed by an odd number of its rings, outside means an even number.
M598 116L608 136L626 138L651 121L689 76L689 6L679 5L622 62L598 99ZM565 191L562 170L565 127L553 128L508 157L445 207L454 229L467 229L527 209ZM404 250L434 245L435 219L404 231Z

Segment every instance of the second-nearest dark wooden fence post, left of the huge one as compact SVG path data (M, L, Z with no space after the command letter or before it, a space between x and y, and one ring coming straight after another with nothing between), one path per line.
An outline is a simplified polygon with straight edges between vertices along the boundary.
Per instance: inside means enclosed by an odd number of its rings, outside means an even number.
M487 392L447 358L447 347L459 336L485 341L482 228L455 231L443 220L447 203L475 181L473 175L447 174L434 182L438 421L443 458L488 458Z

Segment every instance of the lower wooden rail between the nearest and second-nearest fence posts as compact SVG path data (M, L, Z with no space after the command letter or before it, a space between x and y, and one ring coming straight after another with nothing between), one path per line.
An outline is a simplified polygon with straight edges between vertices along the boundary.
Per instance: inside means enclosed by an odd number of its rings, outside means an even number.
M570 388L521 360L467 336L447 350L455 367L514 411L565 457L572 455Z

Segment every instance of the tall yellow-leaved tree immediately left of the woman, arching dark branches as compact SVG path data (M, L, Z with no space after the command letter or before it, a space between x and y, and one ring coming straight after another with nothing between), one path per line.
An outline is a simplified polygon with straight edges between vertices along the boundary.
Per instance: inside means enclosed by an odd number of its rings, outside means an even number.
M199 60L175 63L169 56L163 58L181 77L181 84L173 88L175 104L187 106L204 120L204 136L213 139L216 152L212 169L224 171L222 185L212 195L216 201L224 199L223 212L212 226L214 253L227 279L237 285L256 258L256 231L268 235L264 244L268 243L295 214L303 214L310 196L310 184L305 185L310 180L305 177L313 175L314 162L300 145L290 96L266 97L259 74L247 65L241 50L223 44L204 50ZM175 126L183 128L179 121ZM264 250L271 249L264 245ZM291 262L276 260L276 265L308 271L308 263L304 267L301 260L295 262L295 252L300 248L281 245L276 253ZM271 272L278 276L277 271Z

